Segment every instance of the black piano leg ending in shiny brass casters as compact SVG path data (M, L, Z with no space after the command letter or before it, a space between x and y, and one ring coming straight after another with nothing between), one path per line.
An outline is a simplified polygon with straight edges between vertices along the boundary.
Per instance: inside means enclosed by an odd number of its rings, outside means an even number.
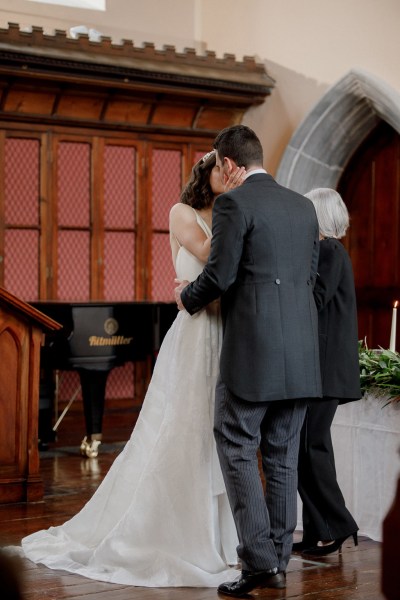
M104 401L109 371L79 369L82 388L86 436L81 453L89 458L97 456L103 431Z

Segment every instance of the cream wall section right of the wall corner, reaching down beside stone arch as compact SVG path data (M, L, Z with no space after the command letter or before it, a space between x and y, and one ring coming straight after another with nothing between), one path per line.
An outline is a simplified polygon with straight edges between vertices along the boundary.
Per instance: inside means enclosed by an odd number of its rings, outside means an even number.
M399 0L201 0L202 31L217 54L255 55L276 79L244 122L273 174L291 134L328 87L355 67L400 92ZM222 33L223 32L223 33Z

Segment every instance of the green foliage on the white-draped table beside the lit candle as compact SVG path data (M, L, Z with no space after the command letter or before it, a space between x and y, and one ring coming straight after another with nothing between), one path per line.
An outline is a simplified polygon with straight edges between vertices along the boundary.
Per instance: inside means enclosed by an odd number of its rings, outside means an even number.
M400 402L400 354L391 350L370 350L358 342L361 390L373 391L391 402Z

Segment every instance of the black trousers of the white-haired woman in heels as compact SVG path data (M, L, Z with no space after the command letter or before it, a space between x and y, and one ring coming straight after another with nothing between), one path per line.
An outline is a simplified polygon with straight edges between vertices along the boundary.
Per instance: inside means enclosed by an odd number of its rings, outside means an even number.
M331 425L339 401L310 400L301 430L298 490L303 502L303 540L336 540L358 530L336 479Z

